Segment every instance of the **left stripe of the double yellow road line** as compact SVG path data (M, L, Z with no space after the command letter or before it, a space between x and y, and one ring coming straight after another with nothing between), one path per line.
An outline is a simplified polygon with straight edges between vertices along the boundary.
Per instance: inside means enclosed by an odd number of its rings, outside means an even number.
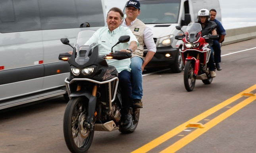
M162 144L163 142L167 141L168 139L172 138L173 136L179 134L181 131L187 129L186 125L191 123L191 122L198 122L204 118L206 118L207 116L210 116L211 114L213 114L214 112L217 112L218 110L220 110L221 108L227 106L228 104L233 103L234 101L236 101L237 99L243 97L242 94L245 92L250 92L256 89L256 84L254 86L251 86L250 88L238 93L237 95L231 97L230 99L227 99L226 101L223 101L222 103L214 106L213 108L210 108L209 110L206 110L205 112L203 112L202 114L190 119L189 121L175 127L173 130L166 132L165 134L163 134L162 136L159 136L158 138L152 140L151 142L149 142L148 144L145 144L144 146L136 149L135 151L133 151L132 153L146 153L147 151L150 151L151 149L153 149L156 146L159 146L160 144Z

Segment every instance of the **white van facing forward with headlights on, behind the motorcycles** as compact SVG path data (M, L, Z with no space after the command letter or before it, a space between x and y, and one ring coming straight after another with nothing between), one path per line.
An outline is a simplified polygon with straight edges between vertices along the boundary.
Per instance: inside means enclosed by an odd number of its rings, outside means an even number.
M181 31L175 26L181 26L186 31L187 25L197 21L200 9L216 9L216 19L221 21L221 10L218 0L139 0L141 13L137 17L153 30L156 43L156 54L147 67L169 66L173 73L183 69L179 49L182 41L174 39ZM125 5L126 6L126 5ZM147 50L145 49L144 56Z

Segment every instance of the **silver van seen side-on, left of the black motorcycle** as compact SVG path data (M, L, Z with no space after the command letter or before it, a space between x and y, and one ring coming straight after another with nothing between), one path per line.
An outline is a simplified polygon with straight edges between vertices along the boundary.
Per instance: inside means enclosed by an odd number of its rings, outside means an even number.
M103 0L1 0L0 110L66 93L58 60L78 32L106 26ZM88 28L84 28L88 27Z

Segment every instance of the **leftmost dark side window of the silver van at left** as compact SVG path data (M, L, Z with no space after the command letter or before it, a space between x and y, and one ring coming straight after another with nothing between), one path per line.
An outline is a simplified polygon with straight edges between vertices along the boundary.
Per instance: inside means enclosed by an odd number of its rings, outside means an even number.
M33 31L41 28L37 0L4 0L4 2L1 0L0 9L1 33ZM8 13L2 15L3 12Z

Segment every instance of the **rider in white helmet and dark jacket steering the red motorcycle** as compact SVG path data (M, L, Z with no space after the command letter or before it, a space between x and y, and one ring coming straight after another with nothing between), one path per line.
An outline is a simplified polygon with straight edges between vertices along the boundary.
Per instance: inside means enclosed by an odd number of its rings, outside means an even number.
M208 35L209 34L208 32L211 26L216 24L215 22L210 21L210 11L208 9L200 9L200 11L198 11L197 13L197 19L198 19L197 23L200 23L202 26L202 31L201 31L202 36ZM210 31L210 34L217 35L216 29ZM212 78L214 78L216 77L216 73L215 73L214 56L213 56L214 50L212 48L213 40L206 39L205 41L209 43L210 49L211 49L211 55L210 55L208 65L209 65L210 75Z

